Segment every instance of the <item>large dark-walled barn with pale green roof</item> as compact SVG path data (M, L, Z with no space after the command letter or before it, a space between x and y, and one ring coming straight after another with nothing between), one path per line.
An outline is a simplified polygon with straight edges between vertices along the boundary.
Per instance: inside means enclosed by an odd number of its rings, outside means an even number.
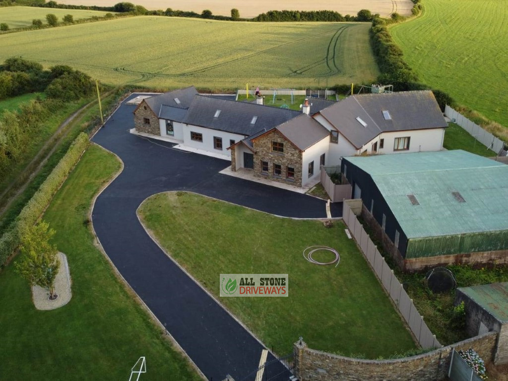
M341 171L404 269L508 262L508 166L454 150L345 157Z

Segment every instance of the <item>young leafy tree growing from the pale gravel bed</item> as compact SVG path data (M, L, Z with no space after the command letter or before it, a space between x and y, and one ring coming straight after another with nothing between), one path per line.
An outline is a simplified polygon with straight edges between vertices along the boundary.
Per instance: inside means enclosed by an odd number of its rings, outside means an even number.
M41 221L39 225L27 228L21 234L21 259L15 268L30 285L37 284L49 291L49 299L57 297L55 293L55 277L60 267L56 257L58 252L49 240L55 231L49 224Z

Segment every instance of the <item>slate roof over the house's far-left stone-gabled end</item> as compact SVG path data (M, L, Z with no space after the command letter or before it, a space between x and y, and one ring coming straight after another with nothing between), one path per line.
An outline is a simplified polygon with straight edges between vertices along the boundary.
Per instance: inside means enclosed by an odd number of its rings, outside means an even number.
M185 116L184 110L188 109L197 94L198 90L190 86L146 98L145 102L157 117L180 122ZM177 103L175 99L178 99L180 103Z

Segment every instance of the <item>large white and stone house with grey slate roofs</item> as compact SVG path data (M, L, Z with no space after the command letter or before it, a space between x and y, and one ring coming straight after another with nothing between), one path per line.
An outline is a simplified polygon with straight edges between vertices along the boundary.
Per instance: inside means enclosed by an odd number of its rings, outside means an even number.
M260 104L261 103L261 104ZM187 87L144 99L136 131L231 157L231 170L295 186L343 156L438 151L447 123L431 91L307 100L302 111L236 102Z

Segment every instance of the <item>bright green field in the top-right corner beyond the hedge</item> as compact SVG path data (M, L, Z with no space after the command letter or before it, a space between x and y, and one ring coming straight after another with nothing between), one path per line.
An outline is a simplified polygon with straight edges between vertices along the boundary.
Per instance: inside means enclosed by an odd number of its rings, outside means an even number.
M391 28L420 79L508 127L508 0L424 0Z

